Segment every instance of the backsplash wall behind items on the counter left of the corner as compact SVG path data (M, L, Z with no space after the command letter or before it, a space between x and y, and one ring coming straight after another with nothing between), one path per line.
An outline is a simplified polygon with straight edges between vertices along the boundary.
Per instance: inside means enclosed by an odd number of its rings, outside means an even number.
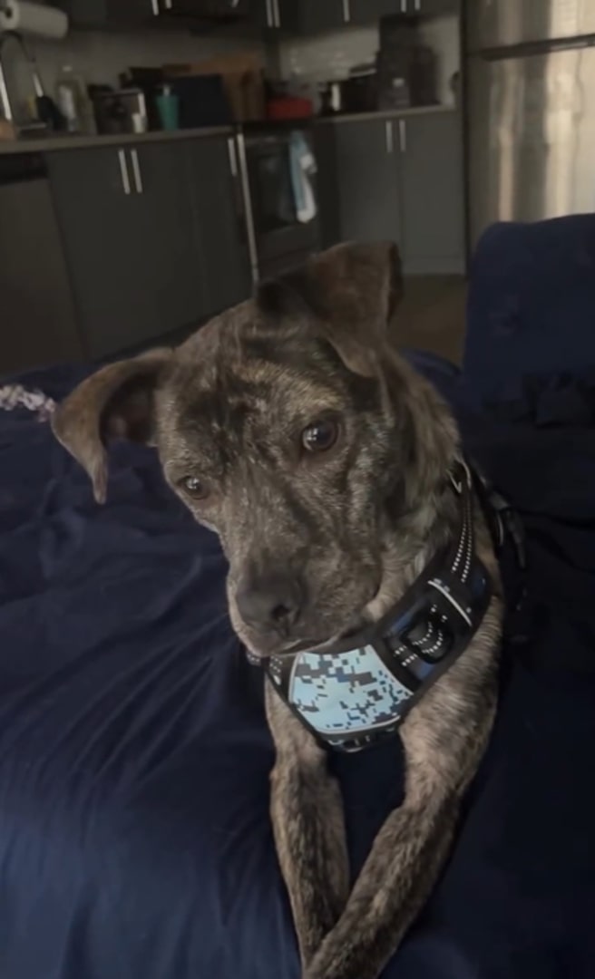
M48 92L64 65L72 65L85 81L117 84L118 75L129 66L159 67L173 62L197 62L235 51L262 50L254 38L201 37L185 31L141 31L107 33L73 31L64 41L29 41Z

